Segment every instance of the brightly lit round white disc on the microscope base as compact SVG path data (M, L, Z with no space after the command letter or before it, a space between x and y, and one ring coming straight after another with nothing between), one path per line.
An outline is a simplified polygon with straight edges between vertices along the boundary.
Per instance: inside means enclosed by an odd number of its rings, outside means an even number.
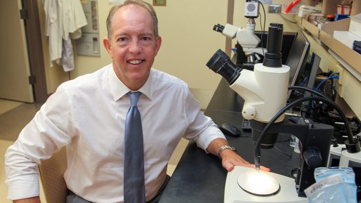
M271 175L264 171L249 171L238 177L238 185L241 189L252 195L274 195L280 191L280 184Z

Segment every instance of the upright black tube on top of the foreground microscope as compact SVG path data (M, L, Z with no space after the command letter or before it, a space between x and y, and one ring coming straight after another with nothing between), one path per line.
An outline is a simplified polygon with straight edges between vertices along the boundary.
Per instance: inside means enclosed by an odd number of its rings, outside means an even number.
M282 34L282 24L269 24L267 52L265 53L265 60L263 61L263 65L268 67L282 67Z

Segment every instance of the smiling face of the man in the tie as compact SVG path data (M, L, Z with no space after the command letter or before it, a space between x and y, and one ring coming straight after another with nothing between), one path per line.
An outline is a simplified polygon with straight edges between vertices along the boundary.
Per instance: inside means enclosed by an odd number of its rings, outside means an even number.
M119 8L113 17L111 39L105 49L113 59L116 76L132 90L141 88L149 76L161 37L154 36L152 17L136 5Z

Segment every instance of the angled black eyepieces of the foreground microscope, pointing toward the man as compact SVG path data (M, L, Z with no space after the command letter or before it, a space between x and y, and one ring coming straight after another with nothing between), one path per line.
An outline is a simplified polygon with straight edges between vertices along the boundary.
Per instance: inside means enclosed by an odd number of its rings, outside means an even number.
M222 50L217 50L206 65L210 70L213 70L215 73L223 76L229 85L233 84L234 81L237 80L238 76L240 76L238 71L240 68L234 65L234 63L231 62L231 58L229 58L229 56L227 56L227 54L225 54Z

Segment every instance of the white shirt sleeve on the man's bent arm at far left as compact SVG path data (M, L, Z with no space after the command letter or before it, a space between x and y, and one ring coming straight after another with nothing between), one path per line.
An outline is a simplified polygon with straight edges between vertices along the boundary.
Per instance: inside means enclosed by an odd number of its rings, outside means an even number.
M41 160L46 160L70 142L74 133L72 107L65 91L52 95L5 155L8 199L19 200L39 195Z

